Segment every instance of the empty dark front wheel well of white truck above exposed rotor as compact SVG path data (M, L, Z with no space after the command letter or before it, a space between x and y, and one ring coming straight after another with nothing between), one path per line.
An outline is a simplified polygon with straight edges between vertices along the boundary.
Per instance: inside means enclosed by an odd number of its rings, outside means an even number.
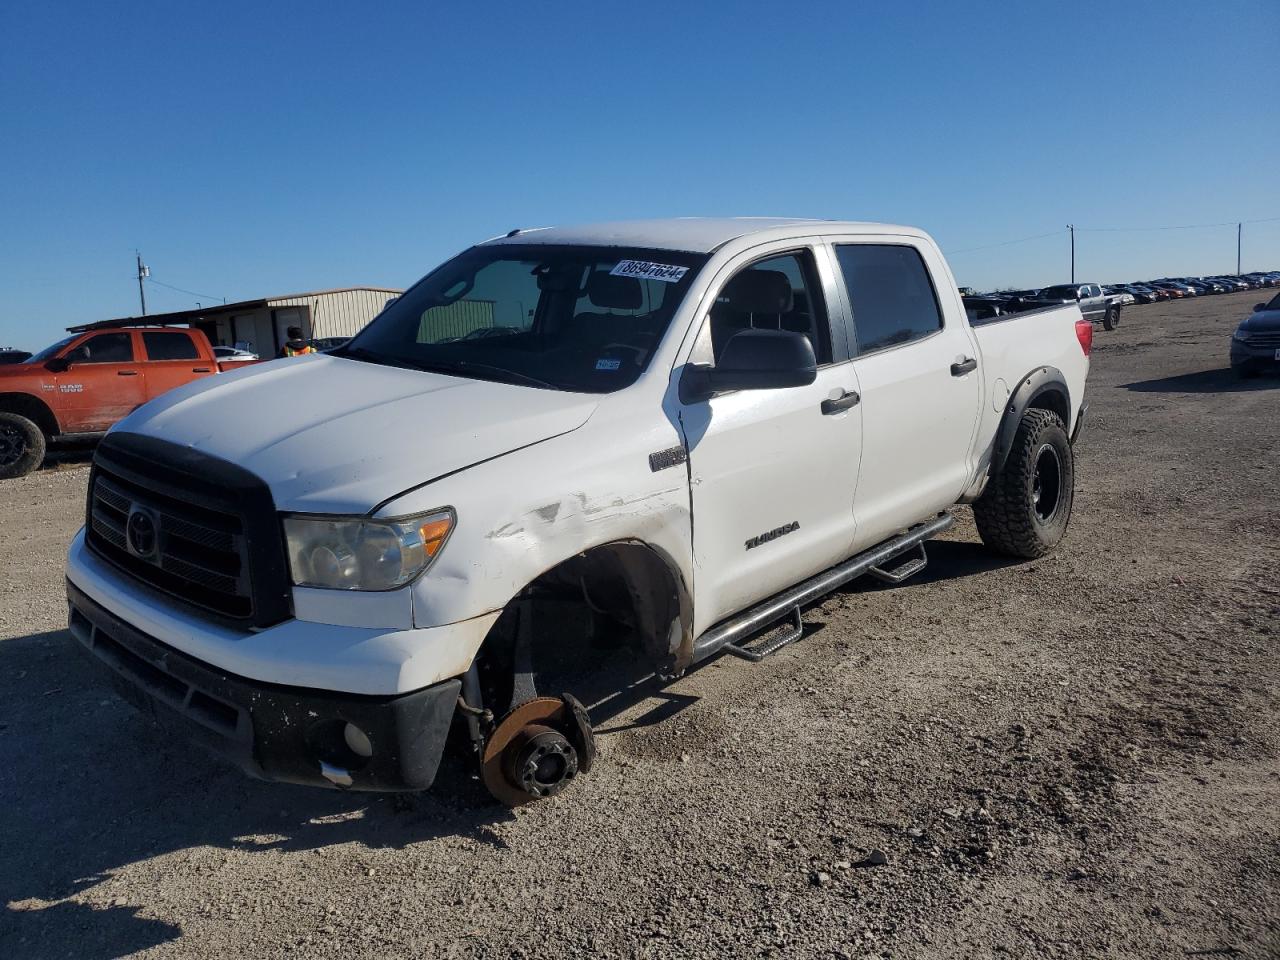
M558 675L562 667L576 672L591 669L593 663L637 658L650 671L676 673L692 653L692 605L675 564L639 541L594 547L539 575L489 630L476 664L485 707L499 714L512 699L520 669L516 646L525 616L540 689L547 675Z

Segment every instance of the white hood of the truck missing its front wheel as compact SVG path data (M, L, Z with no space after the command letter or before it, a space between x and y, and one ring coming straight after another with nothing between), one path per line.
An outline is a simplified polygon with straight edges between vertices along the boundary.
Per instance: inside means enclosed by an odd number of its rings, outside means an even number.
M412 486L576 430L596 403L593 394L316 355L179 387L115 429L237 463L270 485L279 509L367 513Z

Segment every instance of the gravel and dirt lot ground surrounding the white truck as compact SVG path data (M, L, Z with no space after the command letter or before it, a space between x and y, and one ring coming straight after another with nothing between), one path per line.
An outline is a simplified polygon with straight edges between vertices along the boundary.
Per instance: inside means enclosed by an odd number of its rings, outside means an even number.
M0 957L1280 956L1280 380L1225 369L1256 300L1098 330L1056 556L961 511L919 580L599 708L596 769L518 814L165 744L61 628L86 470L0 484Z

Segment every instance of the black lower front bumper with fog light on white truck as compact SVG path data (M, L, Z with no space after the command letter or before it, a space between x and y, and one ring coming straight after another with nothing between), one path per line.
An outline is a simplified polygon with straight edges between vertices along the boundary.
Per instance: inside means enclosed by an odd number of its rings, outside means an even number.
M425 790L435 780L457 678L394 696L264 684L160 643L70 581L67 599L72 635L127 700L251 776L374 791ZM348 736L347 724L365 740Z

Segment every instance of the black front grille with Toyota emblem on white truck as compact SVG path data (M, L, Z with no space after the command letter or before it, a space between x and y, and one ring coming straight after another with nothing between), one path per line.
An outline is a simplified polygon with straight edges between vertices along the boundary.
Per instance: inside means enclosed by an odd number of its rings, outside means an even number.
M99 556L186 604L247 626L291 614L270 490L233 463L113 434L93 457L86 529Z

